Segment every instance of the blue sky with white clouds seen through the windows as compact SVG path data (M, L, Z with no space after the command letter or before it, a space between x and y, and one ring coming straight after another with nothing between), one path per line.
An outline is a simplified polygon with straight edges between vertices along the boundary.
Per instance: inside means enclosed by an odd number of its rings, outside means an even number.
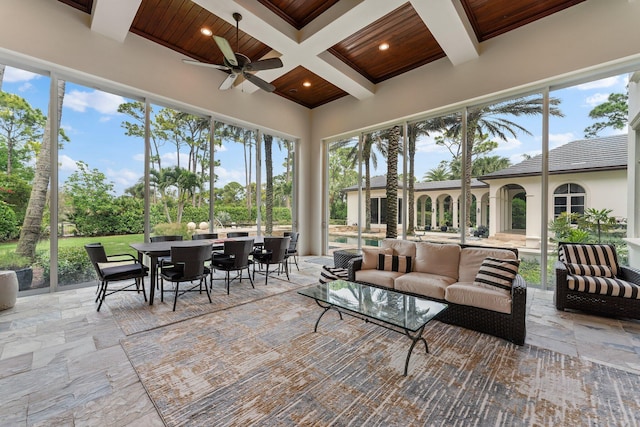
M603 80L573 86L552 92L550 96L561 99L560 108L564 118L552 117L550 120L549 144L553 149L570 141L584 138L584 129L593 124L589 112L596 105L607 100L610 93L626 91L628 76L620 75ZM33 107L47 113L49 99L49 79L28 71L7 67L2 89L25 98ZM76 161L82 160L90 168L102 171L113 182L116 194L135 184L143 175L144 151L141 140L125 135L121 126L128 118L117 112L118 106L130 100L118 95L101 92L96 89L67 82L61 127L70 141L64 144L59 153L60 183L76 170ZM156 110L159 107L156 106ZM536 155L542 152L542 121L540 117L515 119L528 129L532 135L518 134L506 141L497 141L498 148L491 155L507 157L512 164L523 160L523 154ZM624 133L607 130L601 136ZM177 154L169 145L162 149L163 166L177 163ZM277 151L277 150L276 150ZM279 153L274 159L274 174L283 172L283 156ZM451 155L446 148L439 147L433 138L421 138L417 142L416 177L422 179L440 160L448 160ZM244 183L244 155L242 145L225 143L216 153L221 167L216 168L219 181L216 187L228 182ZM255 161L255 154L254 159ZM185 164L184 154L181 164ZM381 161L375 174L384 173L386 166ZM401 167L401 166L400 166ZM255 181L253 177L252 181Z

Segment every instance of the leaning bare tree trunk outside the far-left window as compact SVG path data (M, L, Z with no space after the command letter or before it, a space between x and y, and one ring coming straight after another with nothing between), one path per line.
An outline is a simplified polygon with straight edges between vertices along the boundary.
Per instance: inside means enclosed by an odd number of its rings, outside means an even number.
M62 119L62 102L64 100L64 91L66 87L64 80L58 80L58 129L60 128L60 120ZM42 145L36 158L36 176L31 187L31 197L27 206L27 213L20 230L20 239L16 247L16 253L29 258L33 258L36 253L36 244L40 239L40 230L42 226L42 216L47 203L47 190L49 188L49 179L51 178L51 144L57 143L57 138L51 135L51 115L47 117Z

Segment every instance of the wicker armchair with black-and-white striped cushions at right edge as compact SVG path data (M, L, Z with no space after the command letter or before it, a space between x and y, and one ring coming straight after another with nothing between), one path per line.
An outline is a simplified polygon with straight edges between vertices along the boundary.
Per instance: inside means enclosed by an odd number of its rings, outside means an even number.
M555 270L558 310L640 319L640 271L619 265L613 245L560 243Z

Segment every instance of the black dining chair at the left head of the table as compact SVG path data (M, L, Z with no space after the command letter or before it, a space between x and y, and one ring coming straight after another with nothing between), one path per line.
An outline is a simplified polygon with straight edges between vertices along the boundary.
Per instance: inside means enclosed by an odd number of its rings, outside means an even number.
M99 284L96 302L100 301L100 303L98 304L97 311L100 311L100 307L102 307L102 303L107 295L116 292L128 291L140 293L140 291L142 291L142 296L145 302L147 301L147 294L144 290L144 278L149 269L140 264L136 257L131 254L107 255L104 246L100 243L86 244L84 245L84 249L87 251L87 255L98 276ZM109 288L110 283L132 279L133 283L131 284L117 288ZM135 286L135 289L131 289L133 286Z

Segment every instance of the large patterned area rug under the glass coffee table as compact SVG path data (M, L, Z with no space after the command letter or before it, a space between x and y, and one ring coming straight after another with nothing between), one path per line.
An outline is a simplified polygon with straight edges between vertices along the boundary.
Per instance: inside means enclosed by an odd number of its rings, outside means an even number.
M169 426L640 425L640 379L433 321L431 353L280 293L122 341Z

